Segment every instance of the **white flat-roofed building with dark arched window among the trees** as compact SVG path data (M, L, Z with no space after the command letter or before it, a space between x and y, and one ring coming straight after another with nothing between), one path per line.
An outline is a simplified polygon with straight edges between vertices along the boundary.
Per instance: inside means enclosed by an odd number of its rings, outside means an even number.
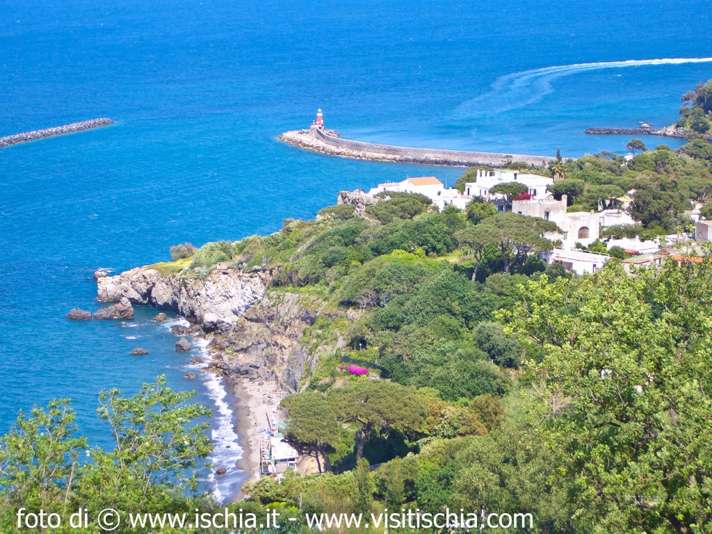
M559 234L549 234L551 241L561 241L564 248L574 248L577 243L584 246L592 244L600 237L600 214L595 211L566 211L567 197L561 200L553 197L545 199L512 201L512 212L529 217L539 217L552 221L560 229Z

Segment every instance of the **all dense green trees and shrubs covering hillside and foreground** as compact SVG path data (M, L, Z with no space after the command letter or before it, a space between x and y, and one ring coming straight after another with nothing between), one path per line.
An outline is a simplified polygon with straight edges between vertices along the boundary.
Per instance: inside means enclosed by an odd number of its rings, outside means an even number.
M557 177L571 209L619 206L634 189L639 223L617 236L688 225L691 200L712 193L712 146L638 149L538 172ZM477 199L439 213L419 195L389 197L269 236L178 246L159 264L197 277L218 263L267 269L274 290L323 300L305 340L342 340L283 401L286 438L319 472L262 478L233 506L297 517L449 506L532 513L535 533L712 533L712 258L633 275L612 260L576 277L538 259L550 221ZM21 507L215 509L192 493L210 444L189 397L162 379L134 397L104 392L116 446L89 455L68 402L21 415L0 441L2 531Z

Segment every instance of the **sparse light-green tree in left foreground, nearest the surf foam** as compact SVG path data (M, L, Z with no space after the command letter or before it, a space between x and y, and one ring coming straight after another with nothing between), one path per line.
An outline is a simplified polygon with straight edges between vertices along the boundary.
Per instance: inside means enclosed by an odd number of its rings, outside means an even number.
M212 451L205 435L209 425L191 426L194 419L211 414L201 404L187 402L194 395L170 389L164 376L142 384L130 397L119 389L101 392L98 414L108 423L114 448L91 449L93 462L80 473L82 498L100 506L120 502L122 511L129 512L194 491L197 473L189 471Z

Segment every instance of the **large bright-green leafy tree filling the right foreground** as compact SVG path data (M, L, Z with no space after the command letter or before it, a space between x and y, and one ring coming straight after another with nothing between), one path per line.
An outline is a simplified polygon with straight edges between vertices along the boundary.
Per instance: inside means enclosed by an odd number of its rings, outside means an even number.
M565 453L577 531L712 531L711 290L709 258L635 276L610 264L531 281L511 310L543 350L532 417Z

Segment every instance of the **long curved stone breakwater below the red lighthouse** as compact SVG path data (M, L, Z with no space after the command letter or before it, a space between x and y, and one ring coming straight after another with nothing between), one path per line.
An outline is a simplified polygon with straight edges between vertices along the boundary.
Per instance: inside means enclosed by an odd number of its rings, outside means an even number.
M328 132L323 132L318 128L284 132L279 136L279 139L295 147L320 152L321 154L379 162L453 165L456 167L471 167L473 165L506 167L511 162L525 162L535 167L546 167L548 162L555 159L555 156L378 145L376 143L343 139L336 135L330 135Z

